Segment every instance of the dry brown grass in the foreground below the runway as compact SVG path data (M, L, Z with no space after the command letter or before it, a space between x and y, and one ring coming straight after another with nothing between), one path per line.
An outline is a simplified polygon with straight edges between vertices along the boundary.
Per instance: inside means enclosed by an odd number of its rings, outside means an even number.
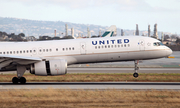
M180 91L133 90L6 90L1 107L179 108Z

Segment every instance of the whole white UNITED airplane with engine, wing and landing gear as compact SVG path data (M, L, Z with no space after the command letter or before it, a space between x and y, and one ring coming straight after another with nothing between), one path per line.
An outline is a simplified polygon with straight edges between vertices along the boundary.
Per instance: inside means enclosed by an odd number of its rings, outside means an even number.
M82 63L157 59L172 54L159 40L142 36L68 39L35 42L1 42L0 72L17 71L13 84L25 84L26 70L40 76L64 75L67 66Z

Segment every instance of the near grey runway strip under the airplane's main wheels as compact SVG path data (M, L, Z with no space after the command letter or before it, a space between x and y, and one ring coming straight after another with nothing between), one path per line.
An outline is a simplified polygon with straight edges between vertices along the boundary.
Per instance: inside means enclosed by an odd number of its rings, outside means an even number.
M14 85L0 83L0 90L7 89L85 89L85 90L180 90L179 82L44 82Z

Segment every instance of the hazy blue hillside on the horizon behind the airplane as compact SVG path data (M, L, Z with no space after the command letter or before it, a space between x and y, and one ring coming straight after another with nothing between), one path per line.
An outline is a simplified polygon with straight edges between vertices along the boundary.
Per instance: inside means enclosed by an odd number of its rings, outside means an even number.
M101 34L105 32L108 28L107 26L100 25L85 25L85 24L75 24L70 22L62 21L39 21L39 20L27 20L19 18L4 18L0 17L0 31L6 32L8 34L15 33L24 33L25 36L54 36L54 30L57 31L57 36L65 35L65 24L68 24L68 34L71 35L71 28L74 28L75 36L78 36L78 33L81 33L83 36L87 36L87 27L91 31L91 35L99 35L99 30ZM153 28L151 28L151 31ZM125 35L133 35L135 30L124 30ZM147 35L146 31L140 31L140 35ZM159 37L161 32L158 33ZM117 35L121 35L121 29L117 28ZM151 32L153 35L153 32Z

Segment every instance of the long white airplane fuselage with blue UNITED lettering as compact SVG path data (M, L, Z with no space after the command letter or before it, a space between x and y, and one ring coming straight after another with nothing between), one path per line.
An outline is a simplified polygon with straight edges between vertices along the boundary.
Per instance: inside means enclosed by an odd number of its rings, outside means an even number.
M0 54L39 57L42 60L65 59L68 65L70 65L77 63L155 59L167 57L172 53L172 50L166 46L154 45L156 42L159 41L141 36L36 42L1 42ZM25 63L21 61L19 64Z

